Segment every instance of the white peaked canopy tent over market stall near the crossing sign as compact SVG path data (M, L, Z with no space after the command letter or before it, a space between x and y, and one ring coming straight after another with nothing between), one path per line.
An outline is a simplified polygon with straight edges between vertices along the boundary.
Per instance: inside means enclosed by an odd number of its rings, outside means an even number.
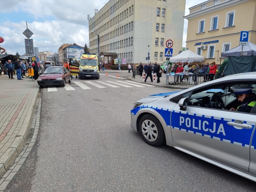
M204 60L203 56L197 55L196 53L187 50L182 51L180 54L170 58L170 62L202 62Z

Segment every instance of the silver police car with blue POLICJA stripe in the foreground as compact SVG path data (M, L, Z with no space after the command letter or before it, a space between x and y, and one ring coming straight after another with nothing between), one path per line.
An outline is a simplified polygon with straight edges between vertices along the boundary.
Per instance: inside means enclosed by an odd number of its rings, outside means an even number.
M246 103L249 111L238 110L245 105L241 98L256 98L255 77L256 72L229 75L148 96L131 110L131 127L149 145L166 143L256 181L256 99Z

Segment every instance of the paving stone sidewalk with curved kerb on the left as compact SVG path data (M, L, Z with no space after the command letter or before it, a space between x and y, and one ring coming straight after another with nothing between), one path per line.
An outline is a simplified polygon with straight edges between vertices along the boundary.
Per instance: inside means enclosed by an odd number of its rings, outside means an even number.
M0 175L26 140L39 90L35 80L14 78L0 75Z

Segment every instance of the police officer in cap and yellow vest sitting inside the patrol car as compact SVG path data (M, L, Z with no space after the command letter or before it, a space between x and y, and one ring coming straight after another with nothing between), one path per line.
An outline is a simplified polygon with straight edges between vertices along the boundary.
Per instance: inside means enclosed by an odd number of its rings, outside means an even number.
M235 97L238 101L242 102L242 105L238 106L236 109L231 108L230 111L240 111L251 113L252 108L256 104L256 94L252 93L253 87L233 87Z

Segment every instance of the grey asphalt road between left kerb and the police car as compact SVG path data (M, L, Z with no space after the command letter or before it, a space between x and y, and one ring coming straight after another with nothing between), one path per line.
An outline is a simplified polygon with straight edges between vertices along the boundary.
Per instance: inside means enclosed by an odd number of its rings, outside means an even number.
M176 90L98 88L84 81L97 80L73 79L75 90L41 89L37 143L5 191L256 191L253 181L169 146L147 145L131 129L134 102Z

